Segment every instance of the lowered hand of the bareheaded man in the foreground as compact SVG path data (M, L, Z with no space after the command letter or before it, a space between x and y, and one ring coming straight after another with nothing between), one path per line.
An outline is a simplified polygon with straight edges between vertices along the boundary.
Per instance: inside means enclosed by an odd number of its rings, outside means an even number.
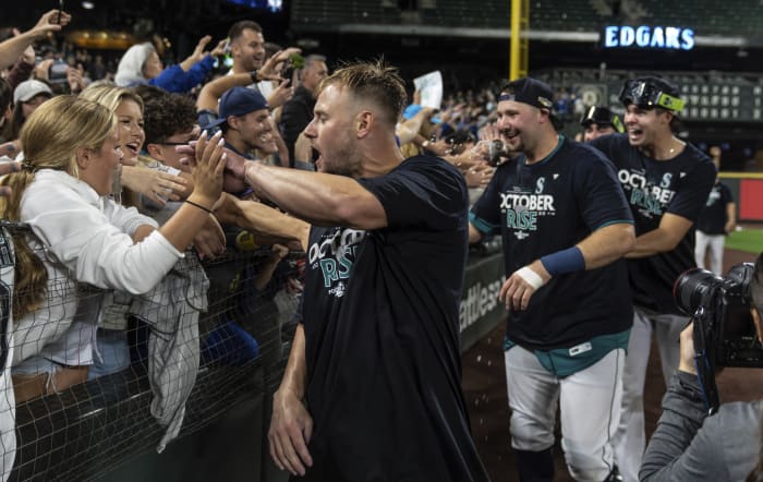
M307 444L313 435L313 418L304 403L291 391L278 389L272 397L270 418L270 457L281 470L304 475L305 466L313 466Z

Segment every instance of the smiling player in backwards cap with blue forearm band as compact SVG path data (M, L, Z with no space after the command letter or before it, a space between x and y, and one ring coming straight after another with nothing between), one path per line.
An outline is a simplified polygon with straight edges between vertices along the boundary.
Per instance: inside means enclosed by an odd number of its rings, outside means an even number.
M615 169L557 134L553 93L533 79L498 98L500 165L470 213L471 242L500 232L508 279L506 378L520 480L554 478L556 407L577 480L616 480L609 443L619 419L633 311L625 261L633 220Z

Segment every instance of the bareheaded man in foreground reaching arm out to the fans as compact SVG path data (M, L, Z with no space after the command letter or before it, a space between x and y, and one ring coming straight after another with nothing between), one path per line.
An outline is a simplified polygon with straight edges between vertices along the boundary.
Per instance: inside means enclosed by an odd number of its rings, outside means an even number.
M487 480L461 391L467 186L443 159L403 158L405 100L393 69L343 68L304 131L318 172L228 164L314 226L268 433L276 463L300 480Z

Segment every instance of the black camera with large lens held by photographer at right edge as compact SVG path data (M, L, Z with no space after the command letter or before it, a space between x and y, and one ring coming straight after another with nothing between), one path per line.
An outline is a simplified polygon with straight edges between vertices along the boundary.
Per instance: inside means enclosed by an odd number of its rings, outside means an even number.
M710 367L763 367L763 346L750 315L754 265L734 266L726 276L694 268L682 274L673 294L682 313L694 320L694 350Z

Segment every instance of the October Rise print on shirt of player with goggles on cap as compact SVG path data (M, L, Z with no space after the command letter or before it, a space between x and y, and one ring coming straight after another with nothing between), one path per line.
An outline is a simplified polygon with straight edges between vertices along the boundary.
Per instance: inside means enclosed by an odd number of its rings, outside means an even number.
M626 191L628 202L646 218L662 216L676 195L676 191L671 189L675 182L674 172L664 172L661 178L654 178L654 176L643 168L617 171L617 178ZM680 172L679 179L685 176L685 172Z

